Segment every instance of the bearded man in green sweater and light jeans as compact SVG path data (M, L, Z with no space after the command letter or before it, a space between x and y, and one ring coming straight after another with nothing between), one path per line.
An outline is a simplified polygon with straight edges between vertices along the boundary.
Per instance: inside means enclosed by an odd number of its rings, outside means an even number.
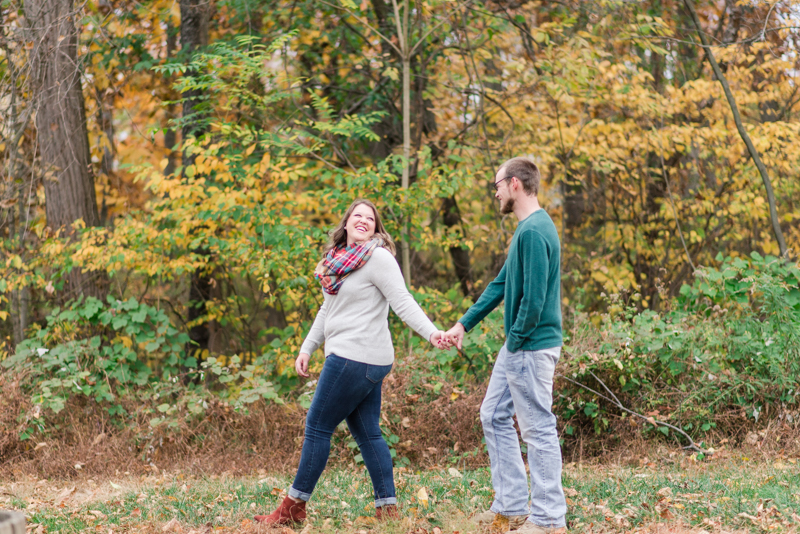
M567 511L561 487L561 447L556 433L553 374L561 355L561 254L558 232L539 206L539 169L527 158L513 158L494 180L500 211L519 220L500 274L446 336L461 348L464 333L505 300L506 343L497 356L481 423L489 449L495 500L476 517L491 523L508 518L519 534L550 534L564 529ZM528 477L512 417L517 414L528 447Z

